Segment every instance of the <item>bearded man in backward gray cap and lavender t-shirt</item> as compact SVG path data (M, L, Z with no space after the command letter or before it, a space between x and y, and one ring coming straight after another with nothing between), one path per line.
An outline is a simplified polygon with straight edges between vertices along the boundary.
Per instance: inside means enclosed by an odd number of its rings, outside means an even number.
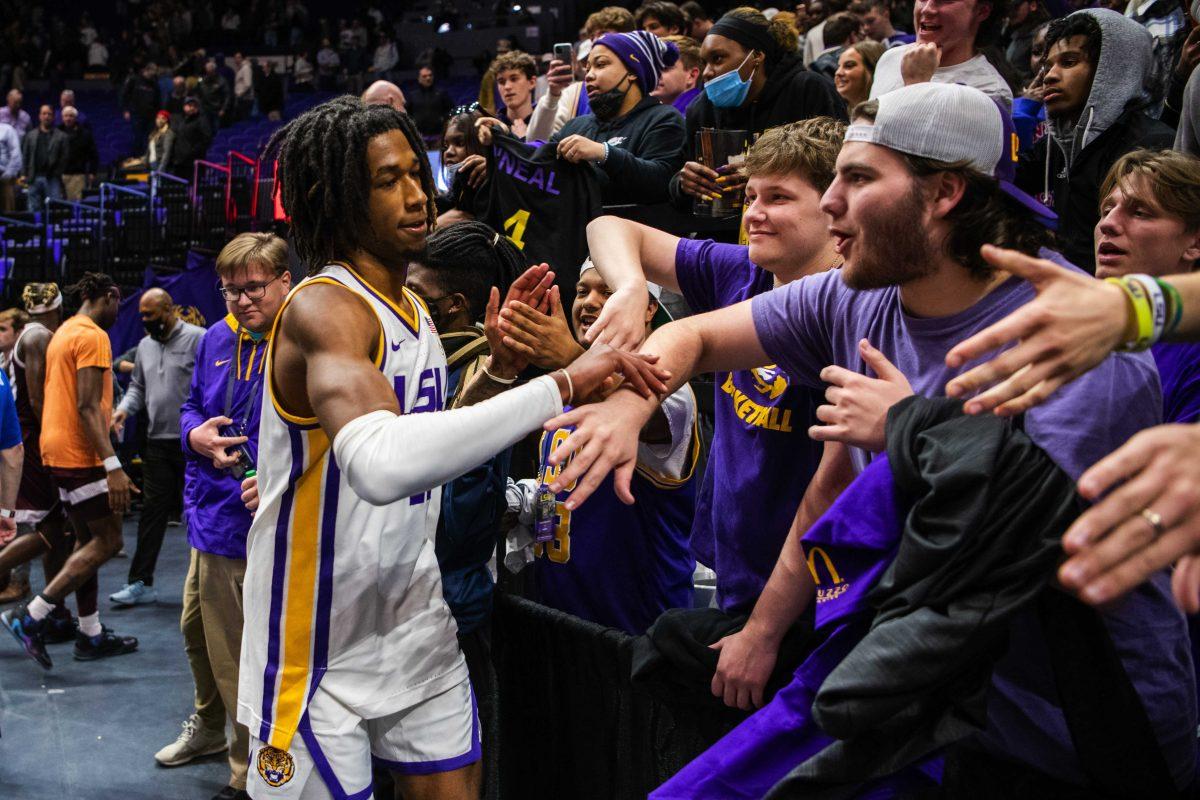
M838 176L821 203L845 266L662 327L643 351L660 356L672 374L668 385L696 372L766 362L814 389L836 381L818 411L823 435L852 445L863 468L883 447L886 413L898 397L942 395L947 380L972 366L949 369L946 353L1033 299L1030 284L992 269L996 251L984 245L1055 257L1036 223L1045 209L1007 180L1003 122L998 107L967 86L914 84L872 101L848 128ZM869 365L878 377L866 374ZM583 491L572 503L586 501L587 488L613 468L622 491L636 432L652 410L653 402L617 392L552 421L576 426L559 449L560 458L580 453L577 467L559 476L578 480ZM1160 417L1151 359L1117 354L1031 410L1024 425L1078 477ZM1196 697L1184 620L1165 576L1105 608L1103 618L1182 786L1194 777ZM983 757L1031 768L1034 783L1086 784L1040 630L1028 616L1014 621L1010 648L995 669L988 728L976 741Z

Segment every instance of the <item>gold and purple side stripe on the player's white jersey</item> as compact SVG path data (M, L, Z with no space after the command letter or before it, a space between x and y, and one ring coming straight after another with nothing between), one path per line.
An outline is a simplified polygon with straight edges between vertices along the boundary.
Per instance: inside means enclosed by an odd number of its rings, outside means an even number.
M275 527L259 739L288 750L325 674L341 473L323 429L288 429L292 469ZM329 456L326 459L325 456Z

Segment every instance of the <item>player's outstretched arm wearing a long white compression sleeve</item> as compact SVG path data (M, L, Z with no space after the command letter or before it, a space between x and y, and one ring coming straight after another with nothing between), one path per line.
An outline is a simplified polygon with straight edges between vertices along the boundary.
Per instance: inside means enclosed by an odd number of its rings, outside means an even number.
M331 326L329 319L340 324ZM646 395L665 391L666 374L653 366L655 359L600 345L565 372L478 405L401 415L372 360L379 323L355 295L337 287L306 289L284 311L281 326L272 379L283 377L288 359L300 360L302 396L332 440L350 487L374 505L432 489L481 464L562 413L564 402L595 396L613 373Z

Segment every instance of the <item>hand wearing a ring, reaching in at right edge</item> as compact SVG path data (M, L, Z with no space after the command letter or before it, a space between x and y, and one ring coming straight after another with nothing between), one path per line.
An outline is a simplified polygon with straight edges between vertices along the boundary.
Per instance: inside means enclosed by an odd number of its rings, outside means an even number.
M1088 500L1108 494L1063 535L1070 558L1058 579L1085 602L1105 603L1200 553L1200 425L1140 432L1084 473L1079 493Z

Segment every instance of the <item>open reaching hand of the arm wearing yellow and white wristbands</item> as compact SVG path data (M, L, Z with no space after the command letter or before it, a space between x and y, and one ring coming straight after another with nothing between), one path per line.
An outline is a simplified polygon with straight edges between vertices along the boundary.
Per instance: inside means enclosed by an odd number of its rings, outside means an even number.
M1026 411L1132 338L1129 303L1120 287L1016 251L984 245L982 252L992 266L1032 283L1038 295L946 355L946 365L958 368L1019 342L946 385L947 397L986 390L966 402L967 414Z

